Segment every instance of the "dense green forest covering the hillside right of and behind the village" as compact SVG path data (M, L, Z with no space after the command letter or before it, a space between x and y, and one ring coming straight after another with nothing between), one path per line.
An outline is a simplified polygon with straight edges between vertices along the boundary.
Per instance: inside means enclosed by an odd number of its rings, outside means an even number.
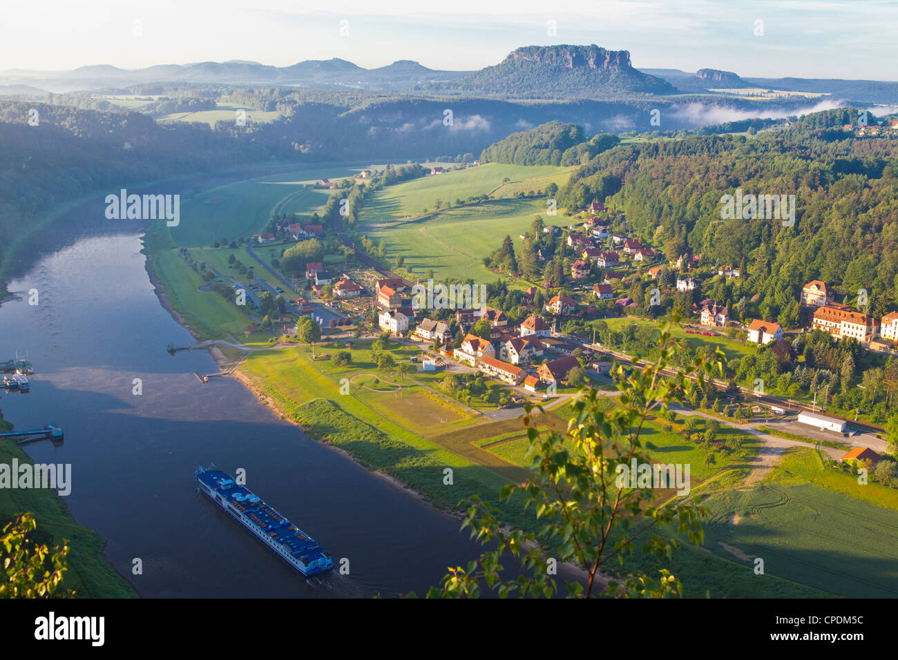
M602 200L668 257L691 251L744 265L742 295L795 298L819 278L898 302L898 140L841 130L857 117L858 110L828 110L754 137L619 145L579 168L559 203ZM721 219L721 197L735 189L795 195L795 226ZM780 308L770 301L773 317Z

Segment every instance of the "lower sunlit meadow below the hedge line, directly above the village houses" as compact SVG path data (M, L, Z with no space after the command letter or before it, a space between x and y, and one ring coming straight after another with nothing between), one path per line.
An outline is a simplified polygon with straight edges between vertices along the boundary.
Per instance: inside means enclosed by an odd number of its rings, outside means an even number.
M472 277L492 282L499 277L483 265L483 258L502 244L506 234L520 247L518 235L528 231L533 217L544 212L541 200L501 199L476 207L451 208L423 220L384 227L367 233L383 239L388 260L402 256L404 268L434 277Z

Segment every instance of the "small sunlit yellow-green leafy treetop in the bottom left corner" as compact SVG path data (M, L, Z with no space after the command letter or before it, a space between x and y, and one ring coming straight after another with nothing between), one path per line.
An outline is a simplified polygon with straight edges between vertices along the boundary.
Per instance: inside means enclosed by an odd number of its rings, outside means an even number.
M68 541L52 552L44 544L31 541L29 534L38 524L31 514L17 515L0 534L0 598L72 597L75 592L59 592L64 573L68 570ZM57 593L58 592L58 593Z

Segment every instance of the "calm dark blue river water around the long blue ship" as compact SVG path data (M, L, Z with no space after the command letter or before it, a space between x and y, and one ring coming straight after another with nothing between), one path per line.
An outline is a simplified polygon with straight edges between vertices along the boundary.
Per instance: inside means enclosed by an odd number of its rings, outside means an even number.
M141 247L136 232L85 231L14 279L19 299L0 306L0 358L27 351L36 372L30 393L3 396L4 417L65 429L61 446L26 451L72 465L66 505L106 538L107 558L139 594L420 595L478 555L452 517L275 418L237 381L199 383L194 371L217 371L207 353L169 356L168 342L193 339L159 304ZM209 462L245 469L249 488L349 560L349 575L306 583L198 494L193 472Z

